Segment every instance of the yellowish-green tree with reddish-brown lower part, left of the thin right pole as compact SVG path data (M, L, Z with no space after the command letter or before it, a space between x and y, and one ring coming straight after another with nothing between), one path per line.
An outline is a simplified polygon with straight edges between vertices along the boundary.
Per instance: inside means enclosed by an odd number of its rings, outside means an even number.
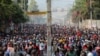
M88 18L88 6L87 0L75 0L75 5L73 6L72 10L74 12L73 20L81 20L83 18ZM73 14L73 13L72 13Z

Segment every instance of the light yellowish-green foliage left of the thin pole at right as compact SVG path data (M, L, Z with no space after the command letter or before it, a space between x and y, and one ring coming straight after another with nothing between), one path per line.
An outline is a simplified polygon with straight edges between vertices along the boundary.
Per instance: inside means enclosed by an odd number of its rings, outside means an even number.
M82 16L86 18L85 15L88 14L88 6L86 0L75 0L75 5L72 10L78 12L76 19L79 19Z

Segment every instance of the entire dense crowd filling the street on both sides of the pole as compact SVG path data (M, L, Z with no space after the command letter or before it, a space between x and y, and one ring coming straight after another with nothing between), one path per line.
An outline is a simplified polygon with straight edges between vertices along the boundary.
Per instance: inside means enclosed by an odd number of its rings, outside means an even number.
M100 29L51 26L54 56L100 56ZM0 56L47 56L47 26L24 24L0 36Z

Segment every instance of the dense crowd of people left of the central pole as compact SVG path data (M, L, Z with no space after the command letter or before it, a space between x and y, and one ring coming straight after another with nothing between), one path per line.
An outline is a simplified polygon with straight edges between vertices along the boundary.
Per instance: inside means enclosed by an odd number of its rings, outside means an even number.
M0 56L45 56L46 36L44 25L25 24L21 28L1 34Z

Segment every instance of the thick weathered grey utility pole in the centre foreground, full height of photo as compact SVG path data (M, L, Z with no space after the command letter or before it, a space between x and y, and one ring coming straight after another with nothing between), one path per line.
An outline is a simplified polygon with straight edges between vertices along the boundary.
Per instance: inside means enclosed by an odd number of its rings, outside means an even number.
M47 56L52 56L51 53L51 0L47 0Z

